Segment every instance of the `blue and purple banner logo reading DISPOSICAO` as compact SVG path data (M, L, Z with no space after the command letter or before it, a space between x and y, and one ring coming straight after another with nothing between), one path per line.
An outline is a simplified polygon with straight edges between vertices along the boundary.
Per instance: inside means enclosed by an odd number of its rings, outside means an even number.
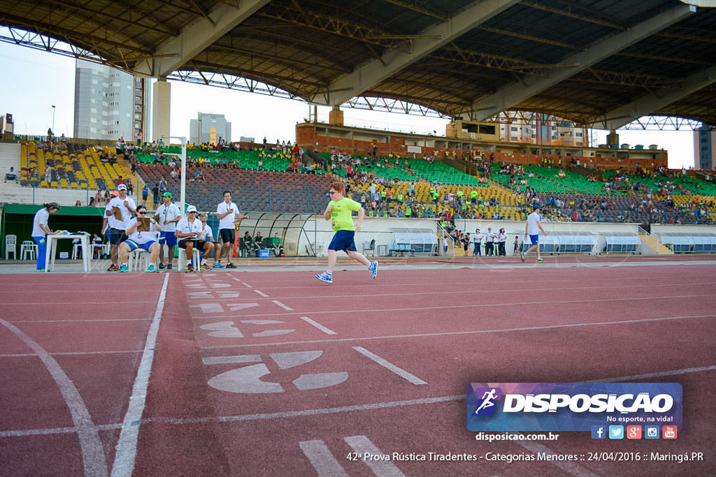
M680 429L682 410L679 383L470 383L467 389L469 431Z

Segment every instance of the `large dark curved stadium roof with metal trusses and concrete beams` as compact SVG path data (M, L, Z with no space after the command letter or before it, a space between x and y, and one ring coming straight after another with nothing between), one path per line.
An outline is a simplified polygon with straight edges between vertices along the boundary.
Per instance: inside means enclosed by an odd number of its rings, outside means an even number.
M679 0L0 0L0 24L129 72L241 77L313 104L716 124L716 9Z

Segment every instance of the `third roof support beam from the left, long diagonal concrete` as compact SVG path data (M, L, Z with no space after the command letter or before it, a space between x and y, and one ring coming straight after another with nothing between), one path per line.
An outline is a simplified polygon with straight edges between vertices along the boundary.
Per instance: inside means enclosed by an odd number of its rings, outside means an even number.
M472 114L473 120L482 121L498 112L510 109L515 104L519 104L535 94L553 87L574 74L601 62L606 57L647 38L657 31L661 31L695 12L695 6L679 4L673 9L664 11L647 21L635 25L632 29L602 39L589 46L588 49L568 56L561 61L561 64L574 66L560 67L553 71L550 77L525 78L523 82L510 84L495 94L490 94L473 103L471 107L471 111L474 112ZM470 114L470 111L465 112L465 114Z

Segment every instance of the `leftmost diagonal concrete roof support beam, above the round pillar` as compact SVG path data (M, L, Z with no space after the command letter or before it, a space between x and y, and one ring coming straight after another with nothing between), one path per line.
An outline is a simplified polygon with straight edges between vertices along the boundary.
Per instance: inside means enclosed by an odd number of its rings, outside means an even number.
M175 71L214 41L231 31L234 26L256 13L270 0L246 0L240 7L219 4L208 14L208 19L201 17L175 38L165 41L153 51L155 59L136 65L136 74L149 77L165 77Z

